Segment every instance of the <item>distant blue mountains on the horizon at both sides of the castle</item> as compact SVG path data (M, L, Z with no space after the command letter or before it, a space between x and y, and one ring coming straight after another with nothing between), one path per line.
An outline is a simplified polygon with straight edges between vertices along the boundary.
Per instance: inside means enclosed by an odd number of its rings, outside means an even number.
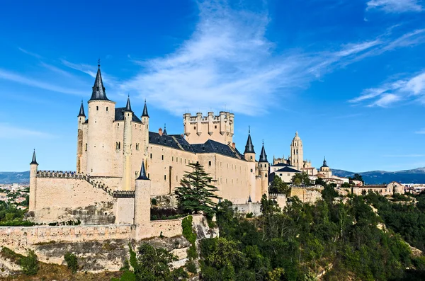
M332 169L335 176L349 177L354 176L354 172ZM373 185L379 183L391 183L397 181L400 183L425 183L425 168L415 168L413 170L387 172L370 171L358 173L363 176L366 184ZM0 172L0 184L4 183L29 183L30 171L25 172Z

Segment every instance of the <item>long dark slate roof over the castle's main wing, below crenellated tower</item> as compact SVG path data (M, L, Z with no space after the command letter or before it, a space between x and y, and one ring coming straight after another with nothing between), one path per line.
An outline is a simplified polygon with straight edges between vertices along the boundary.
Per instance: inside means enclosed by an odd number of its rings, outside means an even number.
M164 145L174 149L189 151L192 153L217 153L233 158L244 159L244 156L237 150L234 151L226 144L208 139L204 144L189 144L180 134L162 134L149 132L149 144ZM239 157L238 157L239 156Z

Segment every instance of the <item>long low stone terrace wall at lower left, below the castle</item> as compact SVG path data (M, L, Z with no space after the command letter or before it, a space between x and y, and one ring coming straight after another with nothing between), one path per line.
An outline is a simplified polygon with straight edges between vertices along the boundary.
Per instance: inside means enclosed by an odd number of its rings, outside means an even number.
M92 226L1 226L0 245L21 248L50 241L84 242L131 239L135 228L126 225Z

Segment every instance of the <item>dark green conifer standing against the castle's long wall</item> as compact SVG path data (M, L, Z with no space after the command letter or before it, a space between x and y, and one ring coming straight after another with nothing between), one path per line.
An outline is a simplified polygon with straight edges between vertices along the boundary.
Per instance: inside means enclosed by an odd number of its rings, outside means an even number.
M218 190L212 185L212 178L202 165L196 163L188 164L193 171L186 172L180 181L181 186L175 190L179 208L188 214L198 214L204 212L208 217L215 213L217 204L212 199L220 199L215 195Z

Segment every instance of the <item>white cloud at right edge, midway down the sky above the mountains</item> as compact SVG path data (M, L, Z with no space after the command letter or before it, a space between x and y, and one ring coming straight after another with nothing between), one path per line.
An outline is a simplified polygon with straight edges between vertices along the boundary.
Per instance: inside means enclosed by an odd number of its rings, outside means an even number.
M368 106L382 108L394 105L398 101L417 100L425 102L425 71L407 79L387 82L378 88L367 88L350 103L367 102Z

